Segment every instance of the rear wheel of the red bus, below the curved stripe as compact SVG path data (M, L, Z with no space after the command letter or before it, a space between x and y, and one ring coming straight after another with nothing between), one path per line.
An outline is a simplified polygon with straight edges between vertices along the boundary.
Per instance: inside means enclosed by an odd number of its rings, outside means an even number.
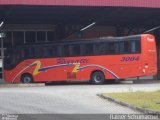
M105 76L101 71L95 71L91 75L91 82L96 85L103 84L105 81Z

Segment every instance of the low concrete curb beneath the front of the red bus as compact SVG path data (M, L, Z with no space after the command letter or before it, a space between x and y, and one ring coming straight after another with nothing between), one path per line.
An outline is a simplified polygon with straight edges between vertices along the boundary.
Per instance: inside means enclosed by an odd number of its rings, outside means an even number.
M30 84L0 84L0 88L11 88L11 87L42 87L44 83L30 83Z

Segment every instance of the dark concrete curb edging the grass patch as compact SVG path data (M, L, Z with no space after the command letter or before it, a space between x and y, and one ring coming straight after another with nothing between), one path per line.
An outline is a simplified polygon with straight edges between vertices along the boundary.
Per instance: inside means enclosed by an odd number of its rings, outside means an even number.
M113 99L109 96L104 96L102 94L97 94L97 96L103 98L103 99L107 99L111 102L114 102L114 103L117 103L119 105L122 105L122 106L125 106L125 107L128 107L128 108L131 108L132 110L136 110L138 112L141 112L141 113L144 113L144 114L152 114L152 115L160 115L160 111L155 111L155 110L149 110L149 109L144 109L144 108L141 108L141 107L136 107L136 106L133 106L133 105L130 105L130 104L127 104L125 102L121 102L121 101L118 101L116 99ZM160 117L160 116L159 116Z

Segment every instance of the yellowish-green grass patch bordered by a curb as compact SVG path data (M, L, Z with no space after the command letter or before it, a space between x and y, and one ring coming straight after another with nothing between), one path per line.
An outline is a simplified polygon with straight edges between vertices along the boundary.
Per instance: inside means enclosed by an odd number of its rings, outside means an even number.
M103 95L137 107L160 111L160 90L155 92L104 93Z

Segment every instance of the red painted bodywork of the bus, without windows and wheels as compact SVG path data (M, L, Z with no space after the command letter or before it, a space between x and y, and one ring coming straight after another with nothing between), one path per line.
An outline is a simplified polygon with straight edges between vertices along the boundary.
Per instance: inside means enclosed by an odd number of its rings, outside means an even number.
M140 54L29 59L5 70L5 80L18 83L23 73L32 74L34 82L90 80L95 70L101 70L106 79L155 75L155 38L142 35L141 48Z

